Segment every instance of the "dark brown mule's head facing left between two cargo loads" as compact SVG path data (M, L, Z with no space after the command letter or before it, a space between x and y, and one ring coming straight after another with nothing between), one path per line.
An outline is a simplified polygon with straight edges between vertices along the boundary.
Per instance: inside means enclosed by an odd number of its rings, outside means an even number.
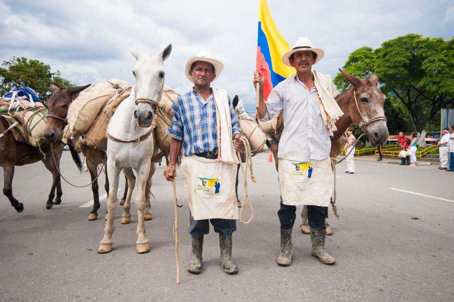
M48 142L56 142L60 139L60 133L67 124L66 116L68 115L68 108L71 102L79 92L90 85L77 86L69 89L50 85L50 92L52 94L46 102L49 113L47 114L46 127L43 133L44 138Z

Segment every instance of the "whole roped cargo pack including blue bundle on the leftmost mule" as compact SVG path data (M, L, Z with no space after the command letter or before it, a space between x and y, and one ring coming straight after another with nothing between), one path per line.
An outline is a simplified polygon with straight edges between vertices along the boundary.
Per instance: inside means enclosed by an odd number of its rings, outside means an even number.
M38 148L45 143L47 109L33 89L22 86L5 94L0 98L0 114L10 124L17 141Z

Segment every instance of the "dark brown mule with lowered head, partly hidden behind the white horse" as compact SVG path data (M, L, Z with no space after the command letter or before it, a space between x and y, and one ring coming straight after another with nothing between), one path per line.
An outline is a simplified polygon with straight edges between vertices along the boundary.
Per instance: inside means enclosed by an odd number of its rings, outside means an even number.
M44 130L44 137L49 142L54 142L60 139L63 129L67 124L66 117L68 115L68 109L77 93L81 92L90 85L78 86L70 89L63 89L56 87L55 85L50 86L51 96L46 102L46 106L49 110L46 128ZM73 93L77 90L77 93ZM85 160L87 163L88 171L90 172L91 181L91 190L93 191L93 209L88 215L88 220L96 220L98 217L98 209L101 206L99 203L99 194L98 194L98 171L97 167L100 164L104 164L105 171L105 184L104 189L109 193L109 182L107 179L107 169L105 169L105 164L107 159L105 157L105 152L98 148L90 147L84 144L81 141L77 142L78 147L82 150L82 153L85 155ZM128 182L125 185L125 193L122 199L122 203L125 203L126 194L128 192Z

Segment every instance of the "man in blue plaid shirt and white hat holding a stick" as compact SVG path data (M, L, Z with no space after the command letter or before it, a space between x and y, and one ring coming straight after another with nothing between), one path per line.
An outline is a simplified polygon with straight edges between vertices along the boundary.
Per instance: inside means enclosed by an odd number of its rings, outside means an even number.
M213 59L210 54L205 52L187 59L185 73L186 77L194 83L194 87L192 91L175 100L172 106L172 126L167 130L167 133L172 136L172 142L169 165L164 171L164 176L169 181L174 179L175 166L183 147L182 172L191 209L189 234L192 237L192 254L187 269L193 274L198 274L202 270L203 236L209 233L209 222L214 226L214 232L219 234L220 265L223 271L228 274L238 272L238 267L232 260L232 233L237 230L236 220L225 218L226 216L234 218L238 216L235 194L232 198L232 190L235 192L237 166L221 162L220 154L224 152L225 141L221 142L218 133L220 134L220 131L225 131L225 129L218 129L218 123L220 123L218 106L222 100L217 99L218 90L210 88L210 83L219 76L222 67L223 64L220 61ZM233 147L236 150L242 150L244 146L239 139L240 122L231 100L226 94L223 95L223 101L228 102L230 108ZM226 107L224 109L225 112ZM221 142L222 148L220 148L219 142ZM234 152L232 143L228 144L228 147L231 152ZM214 169L212 169L213 167ZM212 179L200 178L200 174L206 171L205 168L218 174L215 176L213 174ZM232 175L232 173L235 174ZM197 180L198 177L202 181L199 187L195 187L192 180ZM208 184L210 181L211 187ZM220 193L224 195L215 194L219 193L219 187L220 190L223 190ZM221 210L217 210L217 208ZM209 216L210 219L198 218L201 216Z

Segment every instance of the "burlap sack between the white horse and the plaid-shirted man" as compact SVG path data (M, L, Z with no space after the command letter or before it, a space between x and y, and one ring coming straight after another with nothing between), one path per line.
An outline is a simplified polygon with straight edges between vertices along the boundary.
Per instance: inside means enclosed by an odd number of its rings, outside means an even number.
M154 129L154 137L159 148L164 152L168 153L170 150L170 143L172 136L167 134L167 128L172 125L172 115L170 110L173 102L179 96L178 93L164 85L162 91L162 97L159 101L158 108L156 109L156 128Z

